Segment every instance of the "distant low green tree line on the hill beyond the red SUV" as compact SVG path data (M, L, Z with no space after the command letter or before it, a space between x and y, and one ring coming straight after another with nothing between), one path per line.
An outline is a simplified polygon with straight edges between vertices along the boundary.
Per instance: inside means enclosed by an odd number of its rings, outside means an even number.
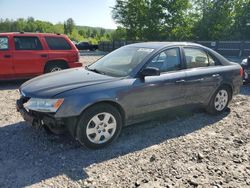
M17 20L0 19L0 32L41 32L66 34L73 41L88 41L97 44L99 41L111 40L113 30L77 26L72 18L64 23L52 24L35 20L33 17Z

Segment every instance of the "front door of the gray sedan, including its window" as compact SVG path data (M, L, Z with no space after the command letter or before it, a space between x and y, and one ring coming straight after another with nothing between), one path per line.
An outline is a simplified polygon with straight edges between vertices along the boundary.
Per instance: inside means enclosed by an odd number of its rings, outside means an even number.
M140 115L185 104L186 79L180 49L166 49L157 54L147 67L158 68L159 76L137 78L133 84L133 115Z

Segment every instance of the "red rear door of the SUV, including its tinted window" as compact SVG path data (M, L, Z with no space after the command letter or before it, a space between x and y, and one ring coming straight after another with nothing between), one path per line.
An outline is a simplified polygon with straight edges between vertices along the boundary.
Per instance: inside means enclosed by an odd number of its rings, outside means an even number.
M36 36L14 36L15 50L13 64L16 75L37 75L43 73L48 55Z

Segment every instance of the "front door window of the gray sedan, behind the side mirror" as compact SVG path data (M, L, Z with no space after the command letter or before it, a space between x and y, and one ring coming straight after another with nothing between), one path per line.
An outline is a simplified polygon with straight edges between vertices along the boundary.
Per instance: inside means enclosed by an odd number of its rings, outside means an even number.
M147 67L158 68L161 72L180 70L179 48L168 49L156 55Z

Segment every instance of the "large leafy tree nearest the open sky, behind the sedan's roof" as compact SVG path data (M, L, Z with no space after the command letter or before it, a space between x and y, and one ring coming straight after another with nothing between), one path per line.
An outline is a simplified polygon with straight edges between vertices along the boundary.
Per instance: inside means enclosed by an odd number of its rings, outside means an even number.
M117 0L112 13L128 39L167 40L178 37L188 25L189 5L189 0Z

